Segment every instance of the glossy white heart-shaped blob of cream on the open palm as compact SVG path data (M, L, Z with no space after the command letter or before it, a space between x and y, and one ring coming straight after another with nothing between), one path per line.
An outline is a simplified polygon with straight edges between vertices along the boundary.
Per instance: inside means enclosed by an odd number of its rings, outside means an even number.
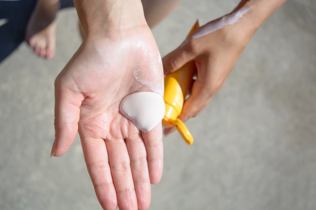
M121 102L120 111L132 120L139 130L146 133L162 120L165 105L161 95L139 92L126 96Z

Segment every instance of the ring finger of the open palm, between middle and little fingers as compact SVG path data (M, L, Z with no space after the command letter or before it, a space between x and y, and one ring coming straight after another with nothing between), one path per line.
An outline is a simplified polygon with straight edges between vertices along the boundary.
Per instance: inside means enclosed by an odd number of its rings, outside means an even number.
M151 205L151 182L142 132L127 138L125 142L131 160L138 209L147 210Z

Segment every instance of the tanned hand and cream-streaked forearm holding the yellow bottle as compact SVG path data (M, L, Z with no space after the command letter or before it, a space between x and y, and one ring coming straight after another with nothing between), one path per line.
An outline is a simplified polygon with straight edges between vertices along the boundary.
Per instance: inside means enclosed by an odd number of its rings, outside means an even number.
M222 88L243 49L260 25L286 0L241 0L228 15L196 30L163 59L164 74L195 61L197 79L178 117L183 122L197 116ZM167 136L175 127L165 128Z

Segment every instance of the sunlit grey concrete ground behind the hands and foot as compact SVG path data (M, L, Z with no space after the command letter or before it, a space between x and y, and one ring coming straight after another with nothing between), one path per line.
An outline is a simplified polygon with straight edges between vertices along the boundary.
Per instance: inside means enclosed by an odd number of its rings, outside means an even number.
M161 55L198 18L238 0L184 0L153 29ZM54 80L80 45L74 9L58 17L57 53L24 43L0 64L0 210L100 210L79 138L54 140ZM195 143L164 138L151 210L316 209L316 2L290 0L257 31L223 89L187 122Z

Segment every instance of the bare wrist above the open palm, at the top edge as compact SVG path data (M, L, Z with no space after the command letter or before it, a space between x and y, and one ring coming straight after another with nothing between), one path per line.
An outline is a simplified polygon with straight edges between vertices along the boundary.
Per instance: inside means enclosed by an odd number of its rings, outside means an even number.
M85 37L118 37L148 27L141 0L75 0Z

